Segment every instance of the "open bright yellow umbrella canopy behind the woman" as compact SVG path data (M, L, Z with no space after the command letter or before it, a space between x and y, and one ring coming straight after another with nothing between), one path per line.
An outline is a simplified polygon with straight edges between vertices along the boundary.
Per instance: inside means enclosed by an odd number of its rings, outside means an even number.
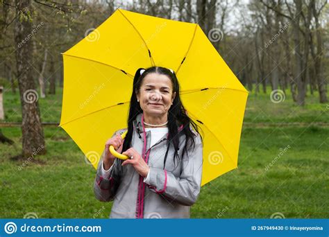
M248 91L198 24L116 10L63 53L60 127L96 168L113 132L127 128L133 75L174 69L187 114L203 131L202 185L237 168Z

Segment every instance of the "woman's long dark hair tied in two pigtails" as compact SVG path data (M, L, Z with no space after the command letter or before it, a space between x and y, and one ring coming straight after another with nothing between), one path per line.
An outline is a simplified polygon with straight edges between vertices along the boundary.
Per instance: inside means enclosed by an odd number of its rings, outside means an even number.
M189 119L189 116L187 116L187 114L185 113L185 108L180 100L180 87L175 73L171 73L171 71L165 67L149 67L148 69L145 69L142 75L140 75L141 70L142 68L137 69L134 77L133 93L131 94L131 98L130 98L130 107L129 107L129 115L128 115L128 132L126 134L126 138L124 139L124 146L122 148L122 151L124 152L131 147L131 139L133 137L133 121L136 119L138 114L143 112L142 108L140 107L140 103L137 102L136 91L137 92L140 91L140 87L142 86L143 79L147 74L159 73L170 78L173 85L173 94L174 92L176 92L173 105L171 105L168 111L167 126L168 126L169 135L167 139L167 151L165 155L165 160L163 162L163 168L165 168L169 147L171 145L174 146L175 149L174 164L176 158L178 161L177 162L177 166L178 166L180 161L180 158L178 156L180 134L185 134L186 136L185 146L183 148L183 153L182 153L182 158L183 158L185 153L188 154L187 150L190 149L194 150L195 148L194 137L196 137L197 134L200 134L198 128L199 126L196 125L196 123L194 123L192 119ZM183 129L180 130L180 132L178 132L178 128L180 127L180 125L183 125ZM192 125L192 127L194 128L197 134L194 134L192 132L190 125ZM201 142L203 143L202 137L201 137Z

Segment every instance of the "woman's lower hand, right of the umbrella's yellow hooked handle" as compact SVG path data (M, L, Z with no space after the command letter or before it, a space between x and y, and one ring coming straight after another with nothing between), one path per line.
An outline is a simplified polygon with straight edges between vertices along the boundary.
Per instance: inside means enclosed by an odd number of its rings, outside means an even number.
M122 162L122 166L126 166L126 164L131 164L135 170L142 175L142 177L146 177L149 173L149 166L146 164L144 159L134 148L129 148L125 152L122 152L122 155L128 155L128 157L133 156L133 159L126 159Z

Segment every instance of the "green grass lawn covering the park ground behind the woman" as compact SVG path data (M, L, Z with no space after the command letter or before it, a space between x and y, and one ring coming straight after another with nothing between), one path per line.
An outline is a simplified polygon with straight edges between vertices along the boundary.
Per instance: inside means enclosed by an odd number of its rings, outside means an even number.
M39 98L42 121L59 122L62 101L58 94ZM4 94L6 121L21 121L18 94ZM250 94L244 121L328 122L329 109L307 98L304 108L289 96L274 104L269 94ZM85 163L78 146L61 128L44 127L47 155L22 170L12 161L22 149L20 128L2 128L15 141L0 143L0 218L108 218L112 202L94 198L95 170ZM201 188L192 207L192 218L328 218L329 128L244 127L239 148L239 168ZM268 170L280 148L289 149Z

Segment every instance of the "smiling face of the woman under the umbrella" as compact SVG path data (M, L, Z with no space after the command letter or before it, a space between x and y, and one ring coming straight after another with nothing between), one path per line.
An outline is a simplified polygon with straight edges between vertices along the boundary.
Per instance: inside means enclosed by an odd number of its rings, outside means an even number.
M149 73L145 76L140 87L140 107L148 114L165 114L174 101L176 92L173 94L173 86L168 76Z

